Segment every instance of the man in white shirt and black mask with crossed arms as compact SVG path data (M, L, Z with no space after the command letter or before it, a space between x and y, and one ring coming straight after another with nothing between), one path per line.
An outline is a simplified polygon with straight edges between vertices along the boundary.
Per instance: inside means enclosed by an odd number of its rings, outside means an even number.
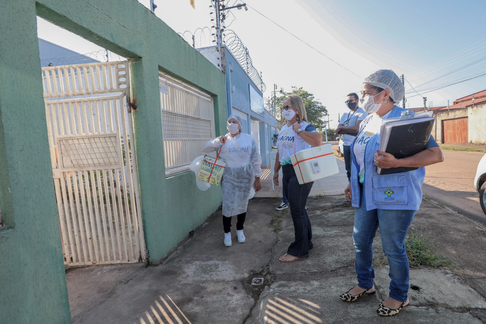
M343 136L343 153L344 153L344 164L346 166L347 180L351 178L351 143L354 138L358 135L360 130L360 123L368 115L358 106L359 97L356 93L352 92L347 95L346 105L349 110L341 116L339 120L339 125L336 129L337 134ZM345 204L350 204L351 202L347 199L344 200Z

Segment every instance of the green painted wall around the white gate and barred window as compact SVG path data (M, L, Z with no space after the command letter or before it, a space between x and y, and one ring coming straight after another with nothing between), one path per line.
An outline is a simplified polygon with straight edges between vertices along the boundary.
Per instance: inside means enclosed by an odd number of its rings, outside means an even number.
M147 249L158 262L221 203L193 173L166 179L162 70L215 95L226 133L224 74L136 0L1 1L0 322L70 323L42 98L36 15L131 59L135 148ZM161 10L162 8L159 8Z

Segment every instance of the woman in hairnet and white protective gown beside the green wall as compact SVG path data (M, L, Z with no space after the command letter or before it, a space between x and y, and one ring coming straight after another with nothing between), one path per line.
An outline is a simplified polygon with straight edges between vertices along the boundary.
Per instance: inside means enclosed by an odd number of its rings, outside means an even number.
M243 223L251 188L260 190L261 157L257 144L249 134L242 133L242 118L229 115L226 127L228 134L209 140L203 145L204 153L219 151L226 168L221 179L223 191L223 229L225 246L231 246L231 217L237 216L236 233L238 242L243 243Z

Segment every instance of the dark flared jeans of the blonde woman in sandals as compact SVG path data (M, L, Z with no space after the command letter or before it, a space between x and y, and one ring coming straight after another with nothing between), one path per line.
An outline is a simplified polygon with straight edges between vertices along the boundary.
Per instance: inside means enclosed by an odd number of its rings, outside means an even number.
M294 222L295 241L290 244L287 253L292 256L308 257L312 249L312 228L309 214L305 209L307 197L313 182L299 185L294 167L290 164L282 167L283 190L289 200L290 214Z

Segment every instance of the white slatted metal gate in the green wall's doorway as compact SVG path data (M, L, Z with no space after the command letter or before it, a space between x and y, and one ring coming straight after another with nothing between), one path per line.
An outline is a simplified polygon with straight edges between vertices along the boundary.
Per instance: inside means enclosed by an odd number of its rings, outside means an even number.
M65 264L146 260L128 62L42 68Z

